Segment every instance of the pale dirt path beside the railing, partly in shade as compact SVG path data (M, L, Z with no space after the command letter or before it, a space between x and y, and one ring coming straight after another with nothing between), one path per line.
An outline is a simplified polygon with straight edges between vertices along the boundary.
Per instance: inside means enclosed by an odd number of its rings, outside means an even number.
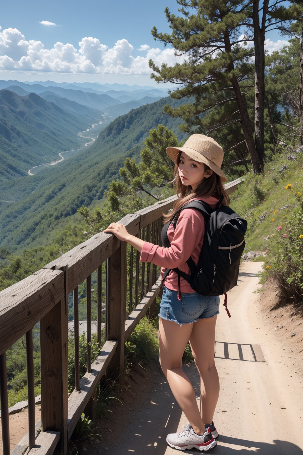
M218 318L216 364L221 393L214 421L220 436L211 453L303 454L302 354L292 359L290 340L285 334L277 335L274 315L262 311L263 293L254 293L260 268L260 263L242 264L238 286L228 293L232 317L222 306ZM277 313L281 316L283 311ZM198 391L194 365L185 369ZM133 400L130 412L124 409L122 416L113 415L112 426L100 429L100 440L86 446L89 454L176 454L166 445L166 435L180 430L187 420L164 376L158 372L151 380L144 400ZM186 454L196 453L186 450Z

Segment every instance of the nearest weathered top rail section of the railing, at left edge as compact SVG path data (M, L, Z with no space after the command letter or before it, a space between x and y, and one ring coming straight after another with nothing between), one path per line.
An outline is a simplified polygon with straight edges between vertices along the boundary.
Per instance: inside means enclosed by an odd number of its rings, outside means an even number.
M39 270L0 292L0 354L64 299L64 273Z

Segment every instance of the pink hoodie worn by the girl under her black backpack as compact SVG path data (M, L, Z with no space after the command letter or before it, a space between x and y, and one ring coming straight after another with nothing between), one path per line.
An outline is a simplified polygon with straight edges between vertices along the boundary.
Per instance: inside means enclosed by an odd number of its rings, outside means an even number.
M195 197L194 200L207 202L215 208L218 199L214 197ZM141 262L152 262L161 266L161 276L163 277L165 268L178 267L185 273L190 274L186 263L191 256L194 263L198 263L199 254L204 239L205 222L202 213L192 208L185 208L180 212L176 229L171 224L167 231L170 247L159 247L153 243L145 242L141 251ZM178 275L171 271L165 279L165 286L172 291L178 291ZM180 277L181 293L195 292L189 283Z

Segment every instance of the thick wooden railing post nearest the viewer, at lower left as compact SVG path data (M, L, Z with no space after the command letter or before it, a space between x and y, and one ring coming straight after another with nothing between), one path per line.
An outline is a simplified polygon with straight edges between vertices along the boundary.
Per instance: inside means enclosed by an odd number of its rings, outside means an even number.
M65 299L40 321L41 430L60 431L58 449L63 455L67 450L68 295L67 266L60 268L64 271Z

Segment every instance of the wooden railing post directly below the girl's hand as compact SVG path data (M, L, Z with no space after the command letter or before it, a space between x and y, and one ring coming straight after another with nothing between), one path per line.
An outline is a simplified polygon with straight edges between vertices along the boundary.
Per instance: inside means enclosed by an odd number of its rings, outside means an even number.
M118 347L109 364L109 376L124 382L124 337L126 312L126 242L121 242L110 257L109 273L109 340L117 340Z

